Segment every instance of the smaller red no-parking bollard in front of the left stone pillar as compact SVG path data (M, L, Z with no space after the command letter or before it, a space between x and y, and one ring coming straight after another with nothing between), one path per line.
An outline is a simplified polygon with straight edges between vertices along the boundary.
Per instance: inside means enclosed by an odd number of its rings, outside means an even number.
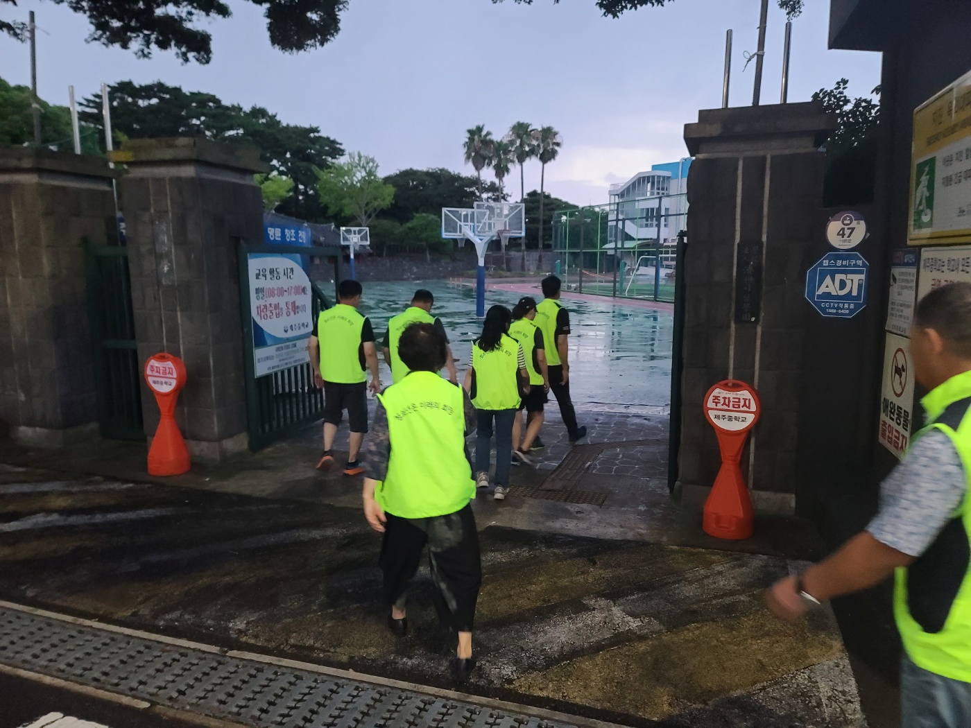
M155 354L145 362L145 381L155 395L161 418L149 448L149 475L178 476L190 467L188 447L176 424L176 400L185 386L185 365L171 354Z

